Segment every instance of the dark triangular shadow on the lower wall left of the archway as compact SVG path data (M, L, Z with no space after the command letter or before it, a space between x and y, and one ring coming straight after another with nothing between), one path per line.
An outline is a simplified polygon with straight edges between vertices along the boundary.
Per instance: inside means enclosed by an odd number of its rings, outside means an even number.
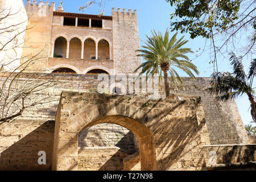
M51 170L55 121L47 121L1 153L0 170ZM46 164L39 165L39 151Z

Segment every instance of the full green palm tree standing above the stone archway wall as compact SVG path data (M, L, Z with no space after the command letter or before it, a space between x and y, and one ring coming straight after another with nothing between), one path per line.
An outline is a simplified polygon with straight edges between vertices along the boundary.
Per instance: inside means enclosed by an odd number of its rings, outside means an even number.
M193 75L192 71L194 71L197 75L199 75L199 71L197 71L197 67L191 63L191 60L185 55L186 53L192 53L191 48L181 48L184 46L188 40L183 40L184 36L177 40L177 33L169 39L169 31L168 28L164 36L161 32L151 31L152 36L146 36L146 46L142 46L143 49L137 50L140 52L137 56L142 56L146 61L142 63L137 69L135 69L134 73L142 68L141 73L139 73L139 77L144 73L146 75L151 74L152 76L155 73L159 74L159 77L162 78L162 73L164 75L164 86L166 90L166 98L170 96L170 88L168 83L168 71L171 75L171 80L176 85L178 82L183 84L179 74L176 72L175 68L179 68L185 73L187 73L190 77L196 78Z

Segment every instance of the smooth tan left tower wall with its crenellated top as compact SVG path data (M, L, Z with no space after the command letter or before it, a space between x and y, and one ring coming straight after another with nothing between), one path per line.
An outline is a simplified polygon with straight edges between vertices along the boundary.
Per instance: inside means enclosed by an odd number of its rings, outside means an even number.
M37 4L36 1L33 1L30 4L30 1L27 1L26 10L28 23L25 35L26 46L22 52L24 59L22 59L22 62L39 54L34 58L36 61L30 66L30 69L46 69L51 43L51 24L55 3L53 2L49 6L49 2L43 4L43 1L40 1Z

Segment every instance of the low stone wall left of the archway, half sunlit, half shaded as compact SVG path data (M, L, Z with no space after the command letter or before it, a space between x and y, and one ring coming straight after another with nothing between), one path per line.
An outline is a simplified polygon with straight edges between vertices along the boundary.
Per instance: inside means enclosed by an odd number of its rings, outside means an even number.
M0 171L51 170L54 123L18 119L0 125ZM40 151L46 164L38 163Z

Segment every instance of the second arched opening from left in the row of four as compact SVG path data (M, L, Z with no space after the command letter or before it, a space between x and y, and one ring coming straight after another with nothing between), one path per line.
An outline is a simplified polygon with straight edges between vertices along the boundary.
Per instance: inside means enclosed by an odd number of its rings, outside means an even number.
M79 38L73 38L69 43L69 59L81 59L82 42Z

